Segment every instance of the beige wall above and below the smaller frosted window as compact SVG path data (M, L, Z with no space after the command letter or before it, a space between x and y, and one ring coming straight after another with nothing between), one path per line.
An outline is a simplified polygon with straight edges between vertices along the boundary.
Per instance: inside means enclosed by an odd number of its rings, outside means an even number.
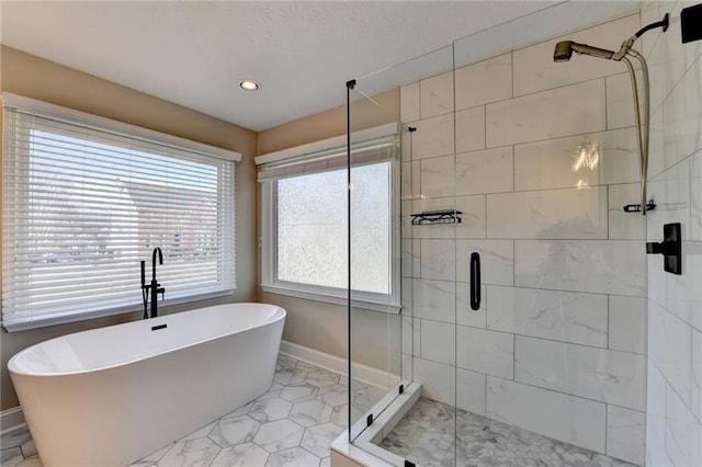
M399 89L393 89L375 95L374 101L352 103L352 129L363 129L396 122L399 115ZM259 133L258 153L264 155L287 149L307 143L344 135L347 132L346 105L315 115L299 118ZM258 191L260 200L260 190ZM259 216L259 231L260 231ZM287 310L283 339L340 357L348 355L348 315L347 307L285 297L276 294L262 294L262 301L272 303ZM399 373L399 320L388 320L383 312L354 310L354 362L377 368ZM394 358L388 358L387 349L378 349L389 341ZM363 338L365 337L365 340ZM373 352L364 350L374 349Z

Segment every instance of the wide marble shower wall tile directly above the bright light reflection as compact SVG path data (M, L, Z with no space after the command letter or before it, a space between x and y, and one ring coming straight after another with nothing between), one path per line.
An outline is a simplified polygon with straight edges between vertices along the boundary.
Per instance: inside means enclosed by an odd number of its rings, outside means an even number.
M510 99L486 107L488 148L605 129L604 80Z

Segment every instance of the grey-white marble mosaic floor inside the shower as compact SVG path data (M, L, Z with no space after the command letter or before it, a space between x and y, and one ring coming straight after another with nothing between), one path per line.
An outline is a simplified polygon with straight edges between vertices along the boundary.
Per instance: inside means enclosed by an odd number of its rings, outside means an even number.
M635 467L465 410L454 413L453 407L426 398L415 403L381 447L427 467Z

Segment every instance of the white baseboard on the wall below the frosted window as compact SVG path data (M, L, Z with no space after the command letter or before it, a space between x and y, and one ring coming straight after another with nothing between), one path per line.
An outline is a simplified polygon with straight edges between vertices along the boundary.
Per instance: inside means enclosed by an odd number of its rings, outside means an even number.
M349 376L349 361L337 355L331 355L318 350L306 348L288 341L281 341L281 353L293 358L310 363L330 372ZM353 364L353 379L363 381L376 387L387 389L394 385L399 385L400 377L384 369L374 368L361 363Z

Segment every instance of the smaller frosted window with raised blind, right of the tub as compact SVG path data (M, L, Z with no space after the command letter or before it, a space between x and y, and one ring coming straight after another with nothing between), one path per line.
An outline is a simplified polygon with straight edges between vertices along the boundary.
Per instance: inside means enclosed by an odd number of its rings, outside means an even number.
M352 148L352 298L358 306L371 309L386 309L388 305L397 309L399 305L398 228L393 220L397 218L398 143L393 133L397 132L397 125L390 126L382 128L390 135ZM343 146L299 157L283 151L257 158L261 164L259 181L263 184L265 291L346 303L349 285L346 159Z

